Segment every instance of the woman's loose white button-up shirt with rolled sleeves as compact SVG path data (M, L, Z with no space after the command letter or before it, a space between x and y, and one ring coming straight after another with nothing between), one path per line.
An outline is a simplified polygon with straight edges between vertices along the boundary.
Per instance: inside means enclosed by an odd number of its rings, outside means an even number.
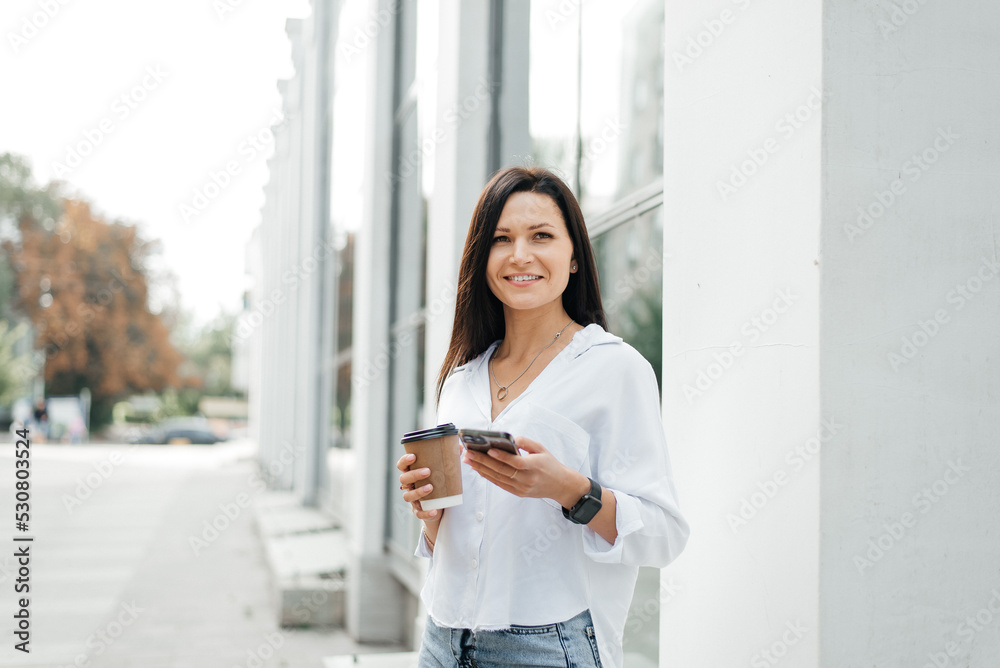
M605 666L622 665L622 632L639 566L662 567L684 548L660 419L656 376L620 337L578 331L497 419L488 360L495 341L445 382L438 423L541 443L614 492L614 544L563 517L552 499L520 498L462 465L463 503L441 519L421 598L439 626L503 629L565 621L589 608Z

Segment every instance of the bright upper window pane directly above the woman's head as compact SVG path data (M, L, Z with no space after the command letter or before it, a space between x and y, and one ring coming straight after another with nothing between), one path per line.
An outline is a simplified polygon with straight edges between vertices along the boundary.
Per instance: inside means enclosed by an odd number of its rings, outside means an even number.
M562 176L584 215L663 175L664 6L532 0L534 162Z

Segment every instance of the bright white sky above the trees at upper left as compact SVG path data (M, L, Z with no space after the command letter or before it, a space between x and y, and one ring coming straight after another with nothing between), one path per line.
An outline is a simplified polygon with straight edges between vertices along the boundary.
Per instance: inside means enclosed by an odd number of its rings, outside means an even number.
M182 306L198 322L235 310L272 150L244 142L280 114L277 81L292 74L285 19L305 15L307 0L63 2L0 8L0 152L26 156L44 184L85 133L104 134L104 121L110 133L63 176L70 191L163 242ZM51 18L43 6L55 10ZM35 34L33 19L46 23ZM145 99L129 108L120 98L137 86ZM185 222L180 205L228 161L239 173Z

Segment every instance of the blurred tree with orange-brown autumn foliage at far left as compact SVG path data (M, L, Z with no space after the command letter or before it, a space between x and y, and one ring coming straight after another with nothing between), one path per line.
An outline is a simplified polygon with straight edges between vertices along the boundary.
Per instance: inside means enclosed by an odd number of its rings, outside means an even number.
M62 203L56 220L22 215L19 239L5 242L15 306L45 350L47 393L90 388L92 424L105 424L125 395L183 386L177 371L183 356L149 310L150 243L135 227L94 215L86 202Z

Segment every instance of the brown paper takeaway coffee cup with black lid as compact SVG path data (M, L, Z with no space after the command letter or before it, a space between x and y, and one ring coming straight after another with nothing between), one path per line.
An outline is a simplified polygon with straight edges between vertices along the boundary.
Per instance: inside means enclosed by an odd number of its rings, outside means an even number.
M430 494L420 499L420 507L435 510L462 503L462 442L455 425L449 422L411 431L403 434L401 442L406 452L417 456L410 469L431 470L429 478L417 483L423 486L429 482L434 486Z

